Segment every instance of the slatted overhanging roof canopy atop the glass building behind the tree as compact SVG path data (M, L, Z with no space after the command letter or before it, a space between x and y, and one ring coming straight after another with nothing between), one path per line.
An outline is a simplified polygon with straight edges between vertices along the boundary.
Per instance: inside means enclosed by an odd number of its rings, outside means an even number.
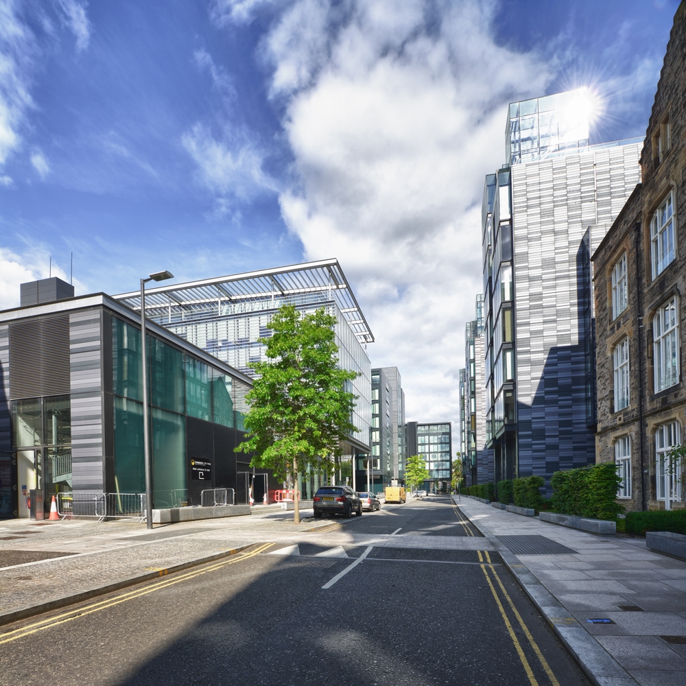
M369 324L337 259L152 287L145 289L145 311L148 317L155 318L173 308L193 319L217 303L221 306L222 303L239 304L274 296L289 299L317 294L322 300L335 300L361 344L374 342ZM139 291L113 297L134 310L141 309Z

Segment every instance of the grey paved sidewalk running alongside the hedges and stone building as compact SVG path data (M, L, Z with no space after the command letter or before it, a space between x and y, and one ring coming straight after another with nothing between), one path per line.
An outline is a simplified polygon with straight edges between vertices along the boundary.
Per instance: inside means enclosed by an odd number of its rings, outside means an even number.
M686 683L686 562L643 540L596 536L466 497L458 504L593 683Z

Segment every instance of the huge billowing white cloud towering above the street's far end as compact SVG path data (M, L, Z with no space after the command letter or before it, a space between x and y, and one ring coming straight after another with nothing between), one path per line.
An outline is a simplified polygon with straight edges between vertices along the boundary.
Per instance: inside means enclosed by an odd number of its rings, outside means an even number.
M508 102L551 72L495 44L490 4L442 3L432 27L419 0L350 6L298 0L265 39L300 181L282 214L307 259L340 259L408 417L456 422L484 175L504 162Z

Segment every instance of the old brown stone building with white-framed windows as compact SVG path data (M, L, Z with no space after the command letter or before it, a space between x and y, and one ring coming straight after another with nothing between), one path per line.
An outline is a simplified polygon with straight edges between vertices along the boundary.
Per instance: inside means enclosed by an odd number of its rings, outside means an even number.
M598 462L627 510L683 508L686 324L686 2L679 5L641 154L641 178L593 255ZM665 497L665 493L668 497Z

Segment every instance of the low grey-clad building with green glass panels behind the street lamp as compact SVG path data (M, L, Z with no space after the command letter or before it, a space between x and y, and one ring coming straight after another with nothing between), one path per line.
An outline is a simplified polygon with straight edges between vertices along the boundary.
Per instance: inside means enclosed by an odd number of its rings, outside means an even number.
M102 293L0 312L1 516L27 517L30 490L45 508L145 491L141 346L140 315ZM252 380L152 322L147 359L154 508L215 487L245 503L250 456L233 449Z

